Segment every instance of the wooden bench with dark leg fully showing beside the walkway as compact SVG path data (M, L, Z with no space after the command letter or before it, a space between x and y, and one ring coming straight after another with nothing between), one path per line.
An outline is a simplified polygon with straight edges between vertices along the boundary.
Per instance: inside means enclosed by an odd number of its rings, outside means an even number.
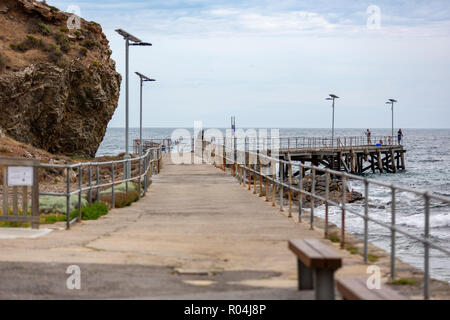
M318 239L289 241L297 256L298 289L315 289L316 300L334 300L334 272L342 266L341 256Z

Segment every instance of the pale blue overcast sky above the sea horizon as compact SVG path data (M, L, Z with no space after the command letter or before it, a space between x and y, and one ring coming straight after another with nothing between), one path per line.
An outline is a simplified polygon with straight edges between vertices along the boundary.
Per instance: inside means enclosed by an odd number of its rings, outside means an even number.
M47 2L100 23L122 75L114 30L153 44L130 48L132 127L134 71L158 81L145 84L145 127L226 127L235 115L244 127L327 128L329 93L341 97L338 128L390 127L388 98L399 100L396 127L450 127L448 0ZM123 88L110 127L124 127Z

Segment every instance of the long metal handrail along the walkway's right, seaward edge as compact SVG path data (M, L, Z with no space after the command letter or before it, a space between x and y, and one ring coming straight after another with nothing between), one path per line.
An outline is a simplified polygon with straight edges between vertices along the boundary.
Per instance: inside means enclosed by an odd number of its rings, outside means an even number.
M221 143L217 143L216 141L208 142L205 141L206 144L210 144L212 147L210 148L211 153L214 152L214 160L213 162L215 164L219 164L222 166L222 168L225 170L226 164L229 164L232 168L231 173L239 179L240 183L245 184L245 177L248 177L248 183L249 183L249 189L251 184L251 175L254 175L254 188L256 192L256 180L255 177L258 176L260 178L260 196L262 196L262 180L266 180L266 200L268 201L268 195L270 193L270 189L268 188L268 183L272 183L272 202L273 205L275 205L275 186L279 187L278 196L279 196L279 202L280 202L280 210L283 210L283 189L286 189L289 193L297 192L300 194L300 200L299 203L299 212L298 212L298 219L301 222L302 212L303 212L303 200L305 196L309 196L310 203L311 203L311 214L310 214L310 227L313 229L314 227L314 202L316 200L323 201L325 204L325 237L328 237L328 207L330 205L337 206L339 209L341 209L341 237L340 237L340 243L341 248L345 247L345 213L351 213L354 214L357 217L360 217L364 220L364 263L368 262L368 236L369 236L369 222L373 222L374 224L377 224L383 228L386 228L390 230L391 232L391 280L394 280L395 278L395 238L396 233L402 234L404 236L407 236L411 239L414 239L416 241L419 241L423 244L425 252L424 252L424 298L429 299L430 298L430 290L429 290L429 282L430 282L430 276L429 276L429 249L433 248L436 249L448 256L450 256L450 251L434 244L429 238L430 238L430 201L431 200L437 200L440 202L443 202L445 204L450 204L450 198L436 195L428 191L422 191L417 189L411 189L403 186L397 186L395 184L388 184L383 183L380 181L376 181L373 179L368 179L360 176L356 176L353 174L349 174L346 172L341 171L335 171L328 168L320 168L317 166L311 166L311 165L305 165L301 163L294 163L289 160L282 160L278 158L274 158L268 155L265 155L262 151L257 150L250 151L248 149L249 145L246 144L246 149L244 150L238 150L237 148L234 148L236 144L234 144L232 141L230 141L229 145L226 144L226 140L221 141ZM230 147L231 146L231 147ZM202 148L203 149L203 148ZM202 150L203 153L203 150ZM241 155L239 159L243 159L243 163L238 162L238 155ZM242 156L243 155L243 156ZM230 157L232 156L232 157ZM251 156L253 157L251 161ZM261 161L262 159L268 160L265 164ZM216 161L217 160L217 161ZM241 161L242 162L242 161ZM274 170L276 171L276 166L279 166L280 174L277 176L276 172L274 172L273 175L267 175L264 174L261 170L264 166L272 166ZM260 170L256 170L252 168L252 165L259 165ZM286 166L289 170L289 179L288 182L283 181L282 176L284 176L284 173L282 172L284 169L283 167ZM293 174L292 174L292 168L296 167L300 171L299 175L299 182L298 186L294 186L292 184L293 180ZM307 170L311 171L311 192L308 192L303 189L303 180L305 179L303 177L303 173ZM322 197L320 195L316 194L315 191L315 177L317 175L317 172L322 173L326 175L326 195L325 197ZM336 202L331 199L329 199L329 183L330 183L330 177L335 176L340 178L342 181L342 197L343 199L341 202ZM346 204L346 181L347 180L357 180L364 183L364 214L361 212L357 212L356 210L347 207ZM369 207L368 207L368 195L369 195L369 187L370 185L376 185L384 188L388 188L391 191L391 223L386 223L384 221L380 221L377 219L374 219L372 217L369 217ZM395 207L395 195L396 192L409 192L416 196L422 197L425 201L424 206L424 212L425 212L425 225L424 225L424 236L420 237L415 234L411 234L408 231L402 230L395 224L395 216L396 216L396 207ZM289 216L292 216L292 197L289 196Z

